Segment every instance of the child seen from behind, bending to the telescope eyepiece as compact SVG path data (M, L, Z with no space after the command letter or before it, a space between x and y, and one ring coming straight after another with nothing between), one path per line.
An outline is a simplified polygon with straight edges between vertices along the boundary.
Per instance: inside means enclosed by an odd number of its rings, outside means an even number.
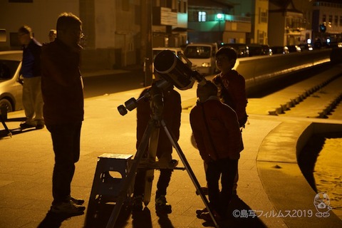
M219 222L227 215L232 200L234 178L242 151L242 136L237 114L217 97L217 87L207 81L197 87L197 105L190 112L190 125L207 165L205 170L209 207ZM219 179L221 178L221 191ZM196 211L199 218L212 221L206 208Z

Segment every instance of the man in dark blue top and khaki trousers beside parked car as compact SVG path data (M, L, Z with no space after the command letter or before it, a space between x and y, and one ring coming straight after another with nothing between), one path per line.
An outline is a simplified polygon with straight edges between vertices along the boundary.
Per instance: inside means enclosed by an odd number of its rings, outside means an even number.
M44 128L43 99L41 97L41 43L33 38L32 29L21 26L18 30L19 43L23 46L21 75L23 83L23 105L26 120L20 128Z

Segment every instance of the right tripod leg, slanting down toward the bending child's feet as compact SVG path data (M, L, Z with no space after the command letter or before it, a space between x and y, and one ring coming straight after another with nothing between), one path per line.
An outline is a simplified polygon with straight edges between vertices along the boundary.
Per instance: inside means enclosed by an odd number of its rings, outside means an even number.
M205 207L207 207L208 212L210 214L210 217L212 217L212 222L214 222L215 227L219 228L219 225L216 222L214 214L212 214L212 211L211 211L211 209L209 207L209 201L208 201L207 197L205 197L205 195L204 195L204 193L203 193L203 191L201 189L201 185L199 185L199 182L197 181L195 173L192 171L192 169L190 167L190 164L187 162L187 159L186 159L184 153L182 152L182 149L180 148L180 145L178 145L178 143L173 139L170 131L167 129L167 126L165 125L164 120L161 120L161 123L162 123L162 127L164 128L167 137L169 138L169 140L172 143L173 147L175 147L175 150L177 151L178 155L180 156L180 160L182 160L183 165L185 166L185 169L187 170L187 173L189 174L190 179L194 183L197 192L199 192L199 195L201 196L201 198L202 198L202 200L204 202Z

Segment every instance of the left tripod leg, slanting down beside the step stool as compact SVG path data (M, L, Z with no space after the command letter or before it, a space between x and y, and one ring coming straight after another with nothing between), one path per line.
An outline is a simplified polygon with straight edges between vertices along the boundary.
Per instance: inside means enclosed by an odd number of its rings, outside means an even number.
M110 214L110 218L108 219L108 223L105 228L114 228L115 226L115 222L118 219L121 207L123 207L123 203L125 202L125 199L127 197L128 189L130 188L131 183L134 181L135 173L138 170L139 162L142 158L142 155L144 155L145 153L145 150L148 145L148 140L150 138L150 134L152 133L153 129L154 129L154 122L153 120L150 120L150 122L147 125L144 135L142 135L142 140L138 147L138 151L136 152L135 157L133 159L133 164L130 167L130 172L128 172L128 175L123 182L123 187L119 192L118 201L115 204L112 214Z

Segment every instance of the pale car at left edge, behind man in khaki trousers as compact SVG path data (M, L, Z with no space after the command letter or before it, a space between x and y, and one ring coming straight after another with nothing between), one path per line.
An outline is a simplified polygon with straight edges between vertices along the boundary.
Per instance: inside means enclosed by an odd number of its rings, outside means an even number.
M8 112L23 109L22 55L22 51L0 51L0 106Z

